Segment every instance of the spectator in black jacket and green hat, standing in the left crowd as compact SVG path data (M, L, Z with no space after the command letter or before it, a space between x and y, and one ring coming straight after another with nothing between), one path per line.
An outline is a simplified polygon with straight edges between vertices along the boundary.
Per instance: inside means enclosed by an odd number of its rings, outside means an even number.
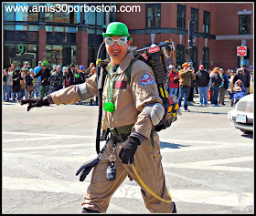
M34 78L37 78L41 76L41 97L45 97L48 95L48 90L49 90L49 77L50 77L50 71L48 69L48 62L47 60L42 61L42 69L38 71L38 73L34 76Z

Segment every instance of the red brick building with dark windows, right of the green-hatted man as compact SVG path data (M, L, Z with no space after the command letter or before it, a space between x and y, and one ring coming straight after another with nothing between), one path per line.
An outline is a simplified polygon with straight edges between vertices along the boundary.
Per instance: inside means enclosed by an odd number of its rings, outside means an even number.
M193 63L209 69L240 66L237 46L247 46L247 66L253 64L253 3L161 3L117 4L140 5L140 12L117 13L116 20L125 23L133 36L133 46L142 47L169 38L176 46L177 64L187 61L188 21L197 23ZM177 54L177 53L176 53ZM171 64L175 60L169 58Z

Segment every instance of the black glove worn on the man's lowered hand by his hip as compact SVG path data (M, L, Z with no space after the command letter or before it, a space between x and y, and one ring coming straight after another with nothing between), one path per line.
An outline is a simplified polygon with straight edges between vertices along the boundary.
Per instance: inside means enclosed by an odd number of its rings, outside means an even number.
M128 137L128 139L123 142L119 153L119 158L122 159L122 163L127 164L129 161L131 164L133 163L133 157L138 145L140 145L140 140L132 136Z

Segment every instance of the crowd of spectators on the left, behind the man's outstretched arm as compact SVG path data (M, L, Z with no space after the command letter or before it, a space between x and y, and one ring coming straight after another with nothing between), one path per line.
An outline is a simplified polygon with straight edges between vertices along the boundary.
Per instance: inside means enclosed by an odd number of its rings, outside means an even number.
M22 98L43 98L63 87L83 83L94 73L96 67L93 63L87 69L82 65L71 64L69 67L54 66L52 70L48 68L47 60L39 61L34 69L27 61L20 70L16 69L15 64L11 64L3 72L3 102L16 102ZM90 105L97 104L98 98L91 99Z

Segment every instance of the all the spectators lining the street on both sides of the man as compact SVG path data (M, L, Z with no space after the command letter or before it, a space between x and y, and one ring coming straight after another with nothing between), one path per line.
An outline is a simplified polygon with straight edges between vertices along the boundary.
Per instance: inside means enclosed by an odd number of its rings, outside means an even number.
M194 106L194 92L199 94L199 106L225 106L225 96L229 92L231 106L234 104L234 95L253 93L253 72L245 65L236 71L221 67L206 70L203 65L195 71L192 62L185 62L182 66L170 65L168 68L168 93L178 98L179 107L184 101L184 110L187 106ZM15 102L22 98L45 97L53 91L85 82L88 77L96 73L96 67L91 63L87 69L71 64L69 67L54 66L50 71L48 62L39 61L34 69L25 62L20 70L15 64L4 69L3 73L3 101ZM78 102L78 104L83 104ZM91 99L90 105L98 105L98 98Z

